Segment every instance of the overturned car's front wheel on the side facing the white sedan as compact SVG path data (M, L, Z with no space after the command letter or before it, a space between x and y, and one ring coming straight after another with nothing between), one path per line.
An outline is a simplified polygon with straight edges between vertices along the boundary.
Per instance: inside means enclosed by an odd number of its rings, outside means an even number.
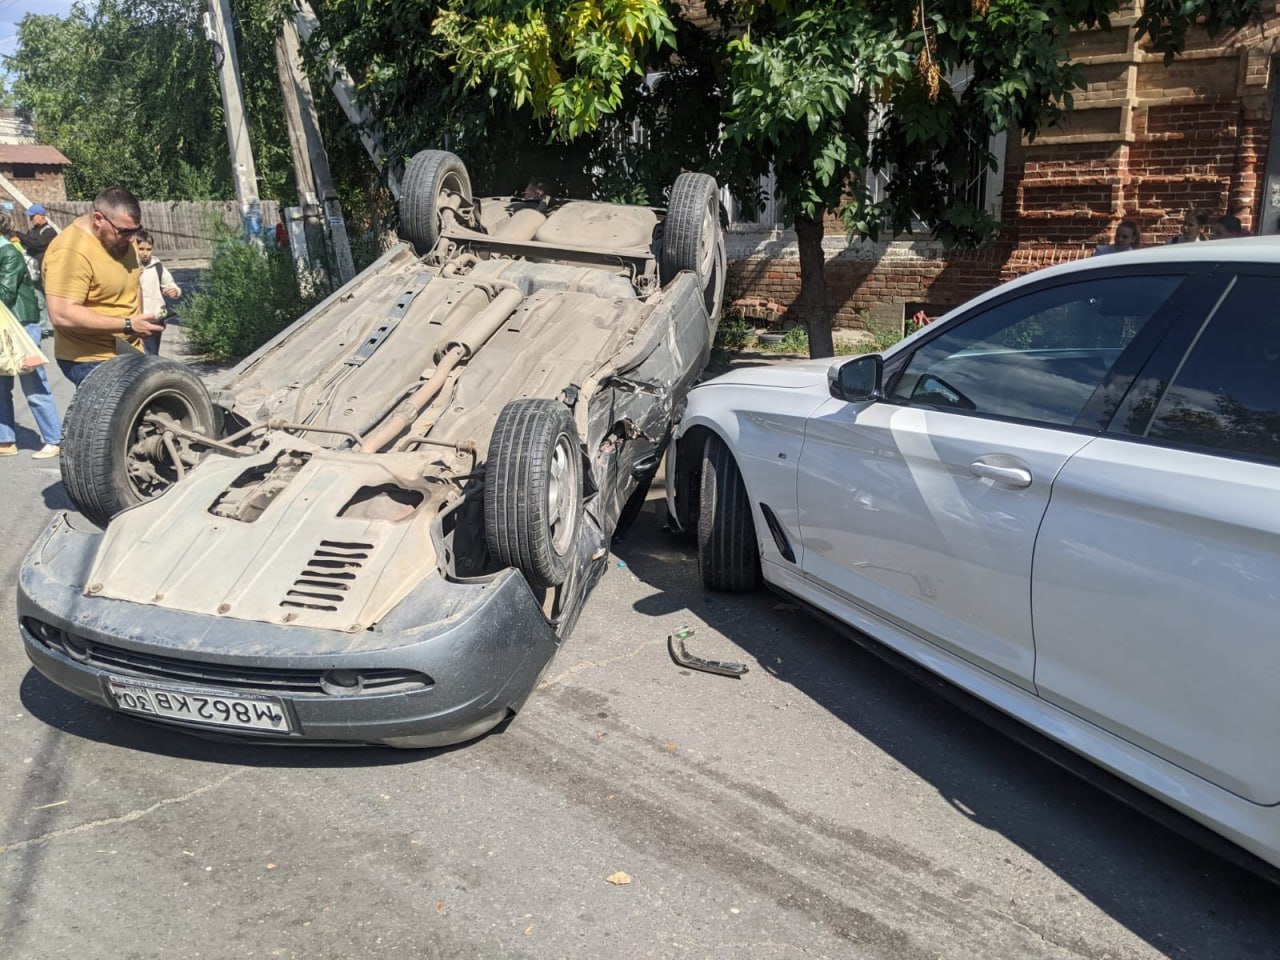
M558 586L570 575L581 517L581 442L568 410L558 401L512 401L489 440L489 553L535 589Z

